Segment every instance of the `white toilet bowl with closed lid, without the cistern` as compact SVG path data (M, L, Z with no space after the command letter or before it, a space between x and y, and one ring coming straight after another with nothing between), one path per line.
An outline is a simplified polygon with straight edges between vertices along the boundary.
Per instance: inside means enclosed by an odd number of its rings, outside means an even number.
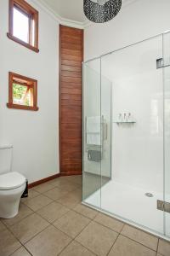
M26 177L18 172L0 175L0 218L14 218L19 211L20 197L26 189Z

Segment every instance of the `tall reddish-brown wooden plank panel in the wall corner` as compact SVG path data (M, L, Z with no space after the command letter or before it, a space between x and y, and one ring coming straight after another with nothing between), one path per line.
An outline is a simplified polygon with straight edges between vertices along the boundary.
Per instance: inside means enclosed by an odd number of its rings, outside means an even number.
M59 42L60 174L82 174L83 30L59 26Z

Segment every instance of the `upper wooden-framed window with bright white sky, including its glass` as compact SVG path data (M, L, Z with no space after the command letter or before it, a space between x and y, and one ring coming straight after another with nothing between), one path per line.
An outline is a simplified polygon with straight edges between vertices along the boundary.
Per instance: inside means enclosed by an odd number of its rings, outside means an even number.
M38 49L38 12L24 0L9 0L8 38L36 52Z

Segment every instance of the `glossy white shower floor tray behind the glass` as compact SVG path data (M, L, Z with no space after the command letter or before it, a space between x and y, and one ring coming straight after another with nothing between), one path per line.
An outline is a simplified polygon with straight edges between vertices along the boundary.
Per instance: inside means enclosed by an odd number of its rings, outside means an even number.
M147 197L144 195L147 192L154 196ZM111 180L101 190L98 189L93 195L88 196L84 202L94 207L101 204L104 211L163 234L164 214L157 210L157 200L162 200L162 195L155 191L136 189Z

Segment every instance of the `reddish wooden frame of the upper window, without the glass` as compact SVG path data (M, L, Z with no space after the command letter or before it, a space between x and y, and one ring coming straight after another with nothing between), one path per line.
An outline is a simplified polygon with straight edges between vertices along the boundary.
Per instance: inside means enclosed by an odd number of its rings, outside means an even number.
M13 21L14 21L14 8L19 9L21 13L27 15L29 18L29 43L22 41L20 38L14 37L13 33ZM32 42L32 24L34 22L34 42ZM8 4L8 33L7 36L9 39L14 42L25 46L28 49L31 49L35 52L39 52L38 49L38 11L31 7L29 3L26 3L25 0L9 0Z

